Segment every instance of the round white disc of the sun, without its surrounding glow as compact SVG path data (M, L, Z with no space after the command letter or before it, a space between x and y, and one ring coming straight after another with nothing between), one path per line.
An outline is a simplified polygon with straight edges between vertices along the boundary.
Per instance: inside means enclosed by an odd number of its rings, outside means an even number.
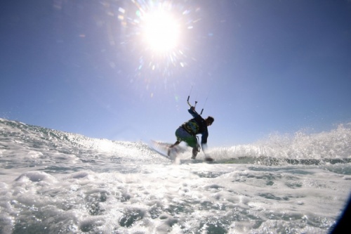
M145 15L144 37L156 53L171 51L177 46L179 25L169 13L156 11Z

